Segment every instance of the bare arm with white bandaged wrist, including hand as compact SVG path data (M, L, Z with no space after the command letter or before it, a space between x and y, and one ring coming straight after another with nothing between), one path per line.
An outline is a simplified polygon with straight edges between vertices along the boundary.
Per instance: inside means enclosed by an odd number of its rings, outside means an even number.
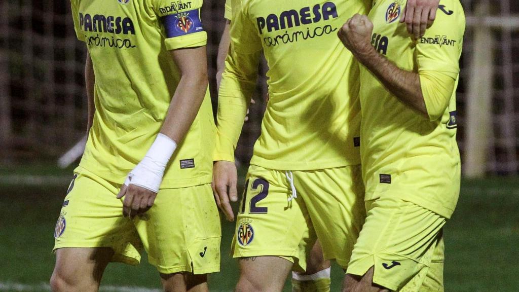
M181 78L160 134L143 160L130 171L117 195L125 197L123 214L131 218L153 206L169 158L186 136L207 92L206 46L172 50L171 57Z

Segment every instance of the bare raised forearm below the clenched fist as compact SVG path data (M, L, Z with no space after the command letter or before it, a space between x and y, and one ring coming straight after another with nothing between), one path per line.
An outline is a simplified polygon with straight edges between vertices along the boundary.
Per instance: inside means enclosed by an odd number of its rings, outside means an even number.
M418 73L400 69L380 55L373 47L362 54L354 54L387 90L401 102L428 117Z

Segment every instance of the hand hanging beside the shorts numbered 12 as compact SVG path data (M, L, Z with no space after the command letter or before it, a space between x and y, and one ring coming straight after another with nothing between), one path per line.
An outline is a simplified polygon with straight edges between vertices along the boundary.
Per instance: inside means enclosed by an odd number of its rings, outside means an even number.
M236 184L238 181L238 171L236 165L230 161L217 161L213 165L213 188L216 205L222 210L228 221L234 221L233 208L230 202L238 201L238 191Z

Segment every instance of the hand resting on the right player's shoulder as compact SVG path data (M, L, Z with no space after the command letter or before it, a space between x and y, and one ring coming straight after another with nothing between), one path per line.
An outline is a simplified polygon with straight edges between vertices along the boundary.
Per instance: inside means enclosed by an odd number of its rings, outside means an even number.
M407 32L414 39L424 36L436 18L440 0L407 0L400 22L407 24Z

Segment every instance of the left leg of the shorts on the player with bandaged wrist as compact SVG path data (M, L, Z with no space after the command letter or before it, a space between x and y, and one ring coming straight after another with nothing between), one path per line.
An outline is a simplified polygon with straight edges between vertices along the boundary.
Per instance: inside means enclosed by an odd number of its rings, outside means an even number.
M54 250L68 247L114 250L112 261L139 263L141 243L133 222L122 216L118 186L90 172L74 176L54 229Z

